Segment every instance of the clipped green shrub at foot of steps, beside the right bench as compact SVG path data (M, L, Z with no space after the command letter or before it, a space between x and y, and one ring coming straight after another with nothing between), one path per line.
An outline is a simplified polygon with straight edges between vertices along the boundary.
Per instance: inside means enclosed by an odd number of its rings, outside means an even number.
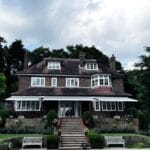
M89 132L88 138L92 148L103 148L105 146L104 136L94 132Z

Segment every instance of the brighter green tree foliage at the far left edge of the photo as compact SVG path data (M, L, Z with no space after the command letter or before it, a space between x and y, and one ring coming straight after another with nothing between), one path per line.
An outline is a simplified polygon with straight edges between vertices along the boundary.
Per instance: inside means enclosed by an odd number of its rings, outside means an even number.
M3 73L0 73L0 96L5 94L6 90L6 77Z

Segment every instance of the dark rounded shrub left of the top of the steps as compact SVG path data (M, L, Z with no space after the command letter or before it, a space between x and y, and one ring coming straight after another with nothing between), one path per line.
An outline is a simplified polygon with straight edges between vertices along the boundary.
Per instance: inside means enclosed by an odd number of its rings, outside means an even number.
M47 113L47 126L51 127L53 124L53 120L57 118L57 113L55 110L49 110Z

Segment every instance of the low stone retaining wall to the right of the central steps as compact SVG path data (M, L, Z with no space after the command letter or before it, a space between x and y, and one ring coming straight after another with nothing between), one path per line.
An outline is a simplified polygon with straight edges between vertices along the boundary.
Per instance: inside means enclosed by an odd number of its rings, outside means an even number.
M100 130L139 130L139 121L136 118L96 118L96 128Z

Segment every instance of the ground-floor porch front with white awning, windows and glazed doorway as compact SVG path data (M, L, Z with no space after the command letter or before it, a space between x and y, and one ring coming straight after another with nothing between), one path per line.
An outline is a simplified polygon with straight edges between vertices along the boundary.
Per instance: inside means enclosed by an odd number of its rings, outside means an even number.
M85 111L110 117L111 114L123 114L126 103L137 101L128 97L112 96L12 96L6 100L13 102L17 114L29 114L29 117L46 115L51 109L58 112L58 117L81 117Z

